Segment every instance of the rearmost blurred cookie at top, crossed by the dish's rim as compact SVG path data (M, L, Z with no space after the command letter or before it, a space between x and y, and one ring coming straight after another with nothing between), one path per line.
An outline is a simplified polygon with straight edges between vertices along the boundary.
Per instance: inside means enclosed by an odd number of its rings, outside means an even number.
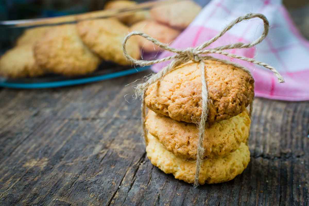
M109 1L105 4L104 9L127 9L130 7L134 7L137 4L135 1L129 0L113 0ZM144 19L149 19L150 14L149 11L138 11L133 12L133 14L123 14L118 18L121 22L125 24L132 24L138 21L142 21Z

